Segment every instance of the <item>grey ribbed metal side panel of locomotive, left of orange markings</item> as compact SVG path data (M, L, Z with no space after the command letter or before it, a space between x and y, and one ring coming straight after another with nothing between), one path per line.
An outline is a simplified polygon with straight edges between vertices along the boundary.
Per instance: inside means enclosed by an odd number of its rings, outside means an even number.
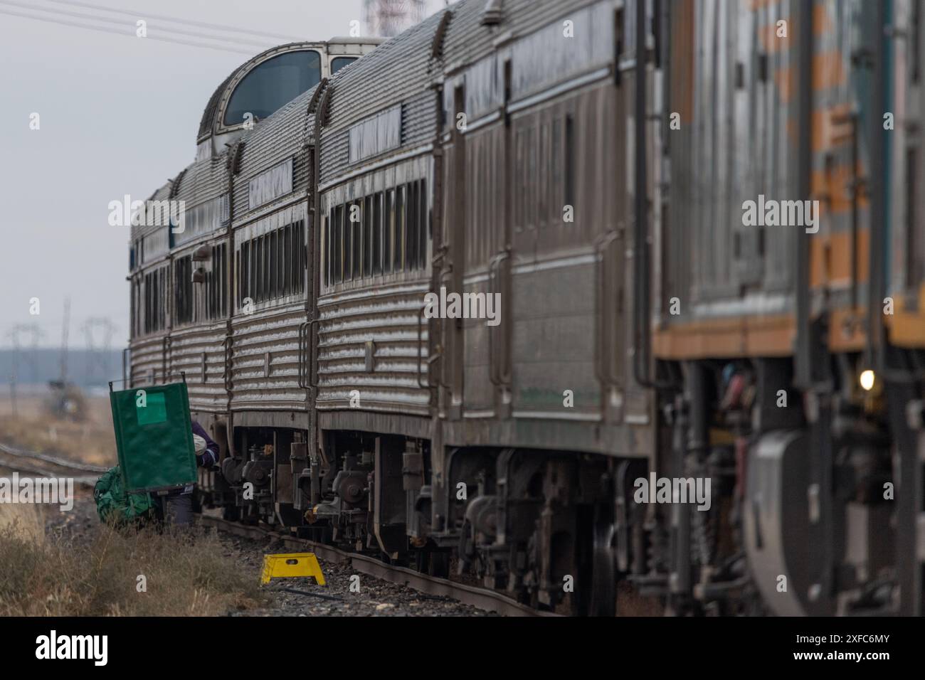
M798 228L743 227L742 204L759 194L796 198L788 132L796 122L796 41L773 32L778 19L795 16L787 0L685 2L674 14L669 110L682 117L680 130L668 133L664 294L681 299L683 315L697 303L780 291L793 280Z

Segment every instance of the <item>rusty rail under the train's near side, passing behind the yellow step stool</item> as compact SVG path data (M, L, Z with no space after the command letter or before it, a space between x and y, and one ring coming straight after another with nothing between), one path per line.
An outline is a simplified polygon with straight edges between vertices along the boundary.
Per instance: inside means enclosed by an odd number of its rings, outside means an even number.
M367 555L339 550L324 543L305 538L296 538L288 534L261 525L240 525L219 517L201 515L203 526L212 526L219 531L243 538L275 538L293 550L311 550L318 557L335 563L350 563L351 568L361 574L412 587L427 595L441 596L459 600L487 612L498 612L504 616L558 616L552 612L539 612L500 593L475 586L455 583L447 578L421 574L407 567L386 564Z

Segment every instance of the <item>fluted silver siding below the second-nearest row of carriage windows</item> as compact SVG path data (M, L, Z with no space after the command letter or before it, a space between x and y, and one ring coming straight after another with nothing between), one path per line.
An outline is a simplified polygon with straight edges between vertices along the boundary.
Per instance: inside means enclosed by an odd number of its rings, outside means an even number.
M235 317L231 342L232 411L305 409L306 391L299 387L299 327L304 320L302 303L272 314Z

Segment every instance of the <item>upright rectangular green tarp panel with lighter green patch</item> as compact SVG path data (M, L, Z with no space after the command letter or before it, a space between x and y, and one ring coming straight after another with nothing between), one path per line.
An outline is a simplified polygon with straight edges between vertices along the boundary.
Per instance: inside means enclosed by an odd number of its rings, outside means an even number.
M196 482L186 383L109 393L118 464L128 493Z

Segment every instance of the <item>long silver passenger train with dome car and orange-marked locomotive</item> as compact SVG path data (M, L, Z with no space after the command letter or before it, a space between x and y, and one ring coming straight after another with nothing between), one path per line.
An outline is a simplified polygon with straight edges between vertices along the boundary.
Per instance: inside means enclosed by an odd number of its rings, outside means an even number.
M133 225L228 519L612 616L917 615L913 0L460 0L290 43Z

